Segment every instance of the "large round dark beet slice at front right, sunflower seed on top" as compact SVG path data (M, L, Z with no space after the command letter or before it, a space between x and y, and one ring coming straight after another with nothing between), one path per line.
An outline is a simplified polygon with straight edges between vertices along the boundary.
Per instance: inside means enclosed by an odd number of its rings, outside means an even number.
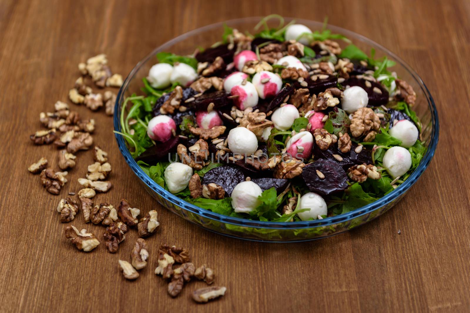
M325 176L324 179L318 177L317 170ZM345 170L330 160L320 159L305 165L302 178L310 191L321 195L335 194L348 187Z

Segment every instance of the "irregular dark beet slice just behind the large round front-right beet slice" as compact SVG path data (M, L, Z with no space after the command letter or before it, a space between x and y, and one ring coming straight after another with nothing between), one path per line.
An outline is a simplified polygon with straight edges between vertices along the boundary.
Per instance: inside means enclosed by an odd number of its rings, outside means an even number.
M345 171L347 171L348 168L355 164L372 164L372 151L363 147L360 153L358 154L354 151L356 147L357 145L355 143L352 143L351 150L349 150L349 152L343 153L338 149L337 144L329 147L327 150L324 151L318 148L317 145L314 145L313 157L315 160L324 159L336 162L337 164L341 165ZM342 157L343 161L338 161L335 157L333 157L334 154L337 154L338 156Z

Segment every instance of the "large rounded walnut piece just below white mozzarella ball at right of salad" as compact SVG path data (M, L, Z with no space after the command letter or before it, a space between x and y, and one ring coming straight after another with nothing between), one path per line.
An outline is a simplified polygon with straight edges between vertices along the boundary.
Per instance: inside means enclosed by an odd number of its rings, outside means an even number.
M355 138L363 135L364 142L371 142L380 129L380 119L371 108L360 108L352 115L351 134Z

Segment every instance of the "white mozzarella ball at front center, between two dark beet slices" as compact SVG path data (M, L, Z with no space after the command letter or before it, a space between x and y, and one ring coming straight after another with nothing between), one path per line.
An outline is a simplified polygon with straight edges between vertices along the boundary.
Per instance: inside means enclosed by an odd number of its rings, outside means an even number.
M248 213L260 204L258 197L262 193L261 188L252 181L242 181L232 191L232 207L237 213Z

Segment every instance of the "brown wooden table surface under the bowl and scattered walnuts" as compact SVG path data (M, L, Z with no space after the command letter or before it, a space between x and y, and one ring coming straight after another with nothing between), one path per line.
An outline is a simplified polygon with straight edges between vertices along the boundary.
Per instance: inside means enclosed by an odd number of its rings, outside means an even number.
M268 5L269 3L269 5ZM154 47L186 31L243 16L279 13L358 32L401 56L431 90L439 110L436 155L419 182L392 210L358 229L313 242L268 244L227 238L184 221L157 204L125 164L112 119L72 105L97 121L94 141L110 154L114 184L95 202L122 197L161 223L150 237L149 266L126 281L130 231L116 254L104 244L76 250L66 224L26 168L52 146L29 140L39 112L53 110L78 77L77 64L100 52L124 76ZM2 312L468 312L470 310L469 125L470 2L468 1L27 1L0 2L0 311ZM70 101L69 101L70 103ZM463 128L463 129L462 129ZM79 190L92 163L80 152L62 195ZM70 224L85 224L81 214ZM104 227L86 224L98 238ZM399 235L397 232L401 230ZM178 298L153 274L160 244L189 249L208 264L225 297L196 305L191 282Z

